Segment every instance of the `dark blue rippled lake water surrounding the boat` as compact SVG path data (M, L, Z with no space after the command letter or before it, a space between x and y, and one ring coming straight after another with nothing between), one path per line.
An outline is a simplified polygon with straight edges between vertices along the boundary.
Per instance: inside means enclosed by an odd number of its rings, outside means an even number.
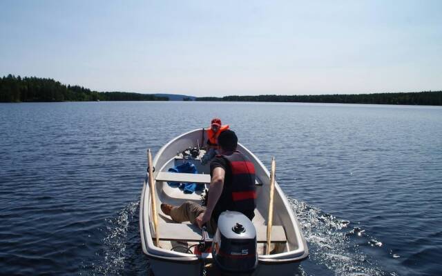
M146 149L212 117L276 158L298 274L441 275L441 107L212 102L0 103L0 275L148 275Z

